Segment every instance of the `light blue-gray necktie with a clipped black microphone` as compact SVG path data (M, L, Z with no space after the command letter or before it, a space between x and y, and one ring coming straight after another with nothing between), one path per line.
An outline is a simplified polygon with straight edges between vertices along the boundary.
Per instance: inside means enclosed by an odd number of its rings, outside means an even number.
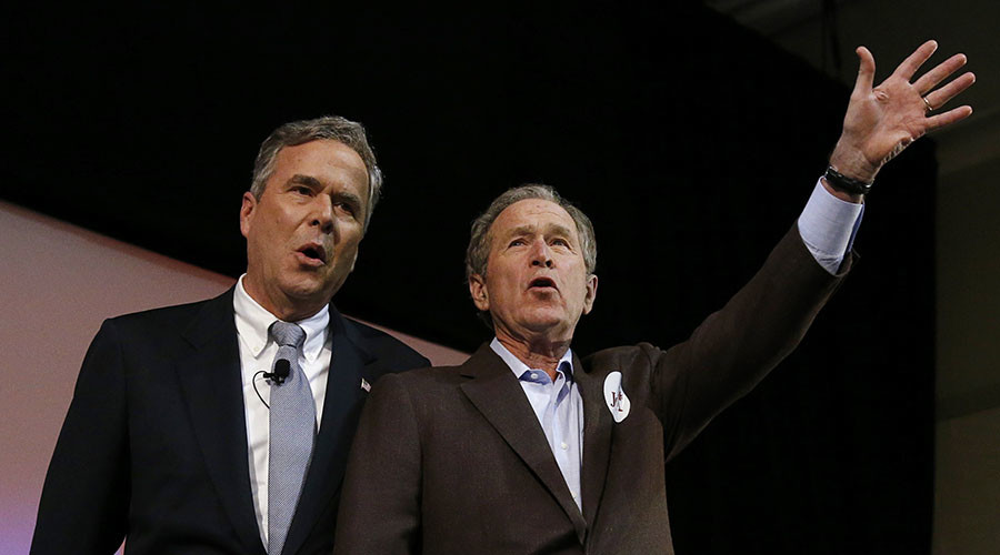
M279 361L289 364L284 383L271 381L270 455L268 461L268 553L279 555L284 547L288 528L296 505L302 493L302 482L316 438L316 401L309 380L299 367L299 350L306 342L306 332L296 324L271 324L271 337L278 343L278 354L271 372L279 369ZM281 366L284 363L280 363Z

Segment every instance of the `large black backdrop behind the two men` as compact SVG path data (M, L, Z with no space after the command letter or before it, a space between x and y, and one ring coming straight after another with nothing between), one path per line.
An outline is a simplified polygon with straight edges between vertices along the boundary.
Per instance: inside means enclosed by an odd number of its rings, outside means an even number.
M234 276L259 142L357 119L387 188L337 304L466 350L468 225L503 189L594 221L574 349L666 346L792 225L848 97L693 2L13 10L4 199ZM669 466L679 554L929 552L934 173L927 140L882 172L834 302Z

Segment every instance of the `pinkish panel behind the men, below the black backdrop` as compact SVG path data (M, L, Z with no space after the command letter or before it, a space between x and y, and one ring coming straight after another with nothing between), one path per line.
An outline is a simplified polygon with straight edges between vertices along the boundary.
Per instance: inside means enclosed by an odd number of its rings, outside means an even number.
M214 296L231 284L228 276L0 202L0 553L28 552L46 467L101 322ZM468 356L389 332L434 364Z

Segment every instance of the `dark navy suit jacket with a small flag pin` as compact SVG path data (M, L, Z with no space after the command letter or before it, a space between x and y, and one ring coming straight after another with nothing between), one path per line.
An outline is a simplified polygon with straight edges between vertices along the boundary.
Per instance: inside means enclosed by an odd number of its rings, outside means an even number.
M107 320L83 361L39 504L32 554L258 554L233 289ZM284 554L329 552L367 392L424 366L330 305L322 424Z

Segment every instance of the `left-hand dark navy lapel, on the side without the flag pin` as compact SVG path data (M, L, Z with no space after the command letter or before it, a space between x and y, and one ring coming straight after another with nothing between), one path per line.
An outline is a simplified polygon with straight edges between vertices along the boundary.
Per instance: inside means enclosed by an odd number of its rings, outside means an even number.
M193 346L178 377L212 484L248 553L263 555L247 451L242 373L230 289L204 304L184 332Z

